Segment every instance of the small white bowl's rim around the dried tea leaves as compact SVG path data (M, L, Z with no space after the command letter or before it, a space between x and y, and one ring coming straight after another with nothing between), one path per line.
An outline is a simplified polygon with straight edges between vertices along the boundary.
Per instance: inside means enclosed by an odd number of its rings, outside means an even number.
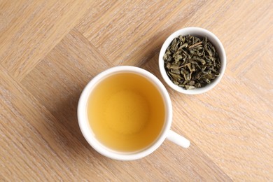
M197 36L197 37L207 36L208 41L210 41L214 45L214 47L216 48L216 51L218 52L218 55L219 55L220 61L221 61L221 69L219 71L220 76L216 77L208 85L205 85L204 87L200 87L200 88L195 88L193 90L186 90L183 87L179 87L178 85L175 85L174 83L172 83L172 80L170 80L169 77L167 76L167 72L165 70L164 60L163 60L163 56L165 55L165 52L166 52L168 46L170 45L170 43L172 43L174 38L176 38L180 35L186 36L188 34L190 34L192 36ZM217 36L212 34L211 31L208 31L207 29L202 29L199 27L187 27L187 28L179 29L178 31L175 31L172 35L170 35L167 38L165 43L163 43L162 48L160 50L160 55L159 55L159 67L160 67L160 73L161 73L163 79L174 90L184 93L184 94L202 94L204 92L211 90L213 87L215 87L220 82L221 78L223 77L226 64L227 64L227 58L225 56L225 50L224 50L224 47L223 47L221 41L219 41Z

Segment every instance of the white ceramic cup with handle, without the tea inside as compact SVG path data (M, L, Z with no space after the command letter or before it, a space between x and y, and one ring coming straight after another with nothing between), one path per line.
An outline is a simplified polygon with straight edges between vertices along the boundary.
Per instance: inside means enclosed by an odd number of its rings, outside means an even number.
M97 83L99 83L103 78L106 78L107 76L123 72L137 73L140 76L147 78L151 82L151 84L154 84L158 88L159 92L162 94L165 103L166 116L161 133L159 134L158 138L153 141L150 146L148 146L148 148L144 148L141 151L120 152L114 151L113 149L104 146L94 136L94 133L92 132L92 127L90 126L87 118L87 100L94 87L96 87ZM83 136L92 146L92 148L94 148L94 150L101 153L102 155L105 155L108 158L112 158L115 160L137 160L140 158L144 158L146 155L153 153L153 151L155 151L166 138L174 142L175 144L182 146L183 148L188 148L190 146L190 141L188 141L188 139L185 139L181 135L176 134L176 132L170 130L170 127L172 125L172 102L164 85L152 73L135 66L116 66L111 69L107 69L106 71L99 73L92 80L90 80L89 83L87 83L82 94L80 95L80 99L78 102L78 124L80 125L80 130L83 133Z

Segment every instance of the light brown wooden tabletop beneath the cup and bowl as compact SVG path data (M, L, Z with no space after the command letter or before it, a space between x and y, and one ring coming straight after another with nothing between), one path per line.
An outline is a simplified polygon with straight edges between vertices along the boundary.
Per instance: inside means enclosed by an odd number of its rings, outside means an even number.
M116 65L162 80L160 47L183 27L214 32L228 58L205 94L164 83L190 148L99 155L78 127L83 87ZM270 0L0 1L0 181L273 181L272 51Z

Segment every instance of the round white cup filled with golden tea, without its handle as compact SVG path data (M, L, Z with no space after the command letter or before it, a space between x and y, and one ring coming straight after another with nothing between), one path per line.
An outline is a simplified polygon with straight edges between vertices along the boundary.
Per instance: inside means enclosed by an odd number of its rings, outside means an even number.
M78 121L96 151L117 160L134 160L162 144L172 122L172 104L152 73L117 66L87 84L78 104Z

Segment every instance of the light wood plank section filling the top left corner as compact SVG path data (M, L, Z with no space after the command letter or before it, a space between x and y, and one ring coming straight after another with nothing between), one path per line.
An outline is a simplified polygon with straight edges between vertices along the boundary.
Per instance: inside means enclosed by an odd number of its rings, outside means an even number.
M21 80L77 25L88 7L84 0L1 1L1 64Z

